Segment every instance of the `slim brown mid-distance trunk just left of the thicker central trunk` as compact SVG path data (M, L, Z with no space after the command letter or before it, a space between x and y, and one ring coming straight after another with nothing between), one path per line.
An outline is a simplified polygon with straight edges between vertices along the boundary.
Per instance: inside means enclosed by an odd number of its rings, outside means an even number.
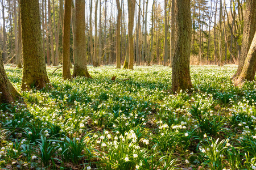
M117 1L117 69L121 68L121 58L120 58L120 26L121 26L121 15L122 15L122 10L121 10L121 6L120 6L120 2L119 0Z

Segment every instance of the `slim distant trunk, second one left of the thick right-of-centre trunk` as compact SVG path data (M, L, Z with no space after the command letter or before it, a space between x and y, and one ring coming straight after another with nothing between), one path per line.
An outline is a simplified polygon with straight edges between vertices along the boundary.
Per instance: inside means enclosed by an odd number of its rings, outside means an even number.
M167 22L167 0L164 0L164 66L168 62L168 22Z

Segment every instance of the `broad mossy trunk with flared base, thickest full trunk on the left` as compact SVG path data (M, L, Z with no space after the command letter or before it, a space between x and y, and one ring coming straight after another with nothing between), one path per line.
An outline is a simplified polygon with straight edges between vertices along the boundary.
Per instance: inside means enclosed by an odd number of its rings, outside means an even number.
M21 0L23 73L22 90L44 88L49 83L43 57L39 2Z

